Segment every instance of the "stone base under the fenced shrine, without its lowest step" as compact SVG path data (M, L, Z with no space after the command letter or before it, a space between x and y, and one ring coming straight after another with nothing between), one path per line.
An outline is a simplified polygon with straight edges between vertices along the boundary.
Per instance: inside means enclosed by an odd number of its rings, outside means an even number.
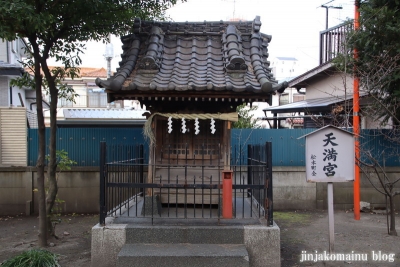
M215 233L209 233L213 230ZM110 225L106 223L106 226L96 225L92 228L91 266L117 266L118 253L125 243L140 244L143 247L142 240L147 243L156 243L159 238L166 237L168 237L167 240L175 240L176 243L181 244L231 244L238 243L235 240L240 238L244 241L248 252L250 267L281 266L280 229L275 223L273 226L260 224L170 227L112 223ZM207 238L207 240L202 241L202 238ZM129 242L126 242L128 240Z

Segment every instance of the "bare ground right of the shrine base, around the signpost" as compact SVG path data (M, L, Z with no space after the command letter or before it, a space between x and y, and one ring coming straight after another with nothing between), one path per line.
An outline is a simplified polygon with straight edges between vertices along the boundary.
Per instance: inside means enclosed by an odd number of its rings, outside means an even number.
M275 221L281 229L282 267L400 266L400 237L387 234L386 216L361 213L361 220L356 221L352 211L336 211L334 216L334 252L340 254L339 257L343 254L348 258L336 261L324 260L326 256L323 253L325 251L329 253L327 213L327 211L275 213ZM400 216L396 217L400 224ZM317 259L319 257L316 262L312 261L315 259L315 254ZM308 260L300 262L306 256ZM355 260L357 256L360 256L360 261Z

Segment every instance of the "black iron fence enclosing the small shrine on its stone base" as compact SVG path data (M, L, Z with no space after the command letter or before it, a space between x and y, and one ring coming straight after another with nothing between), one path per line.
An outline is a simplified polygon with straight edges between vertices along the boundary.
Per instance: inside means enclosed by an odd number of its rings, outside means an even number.
M222 155L220 145L215 149ZM225 164L229 157L214 157L206 146L199 147L197 158L189 157L187 146L178 156L169 147L154 155L152 164L144 164L148 156L143 151L143 145L101 143L100 224L107 216L132 223L138 219L153 223L159 218L219 221L224 208L222 171L227 166L232 171L232 219L265 218L273 224L271 143L249 145L247 165L239 164L236 157ZM231 151L237 154L238 150Z

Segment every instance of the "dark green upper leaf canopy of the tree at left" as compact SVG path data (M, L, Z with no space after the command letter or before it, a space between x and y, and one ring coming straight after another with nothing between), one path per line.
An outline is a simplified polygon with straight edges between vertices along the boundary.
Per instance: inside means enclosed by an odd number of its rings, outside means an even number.
M55 43L50 56L60 61L77 42L103 40L109 33L125 34L135 17L164 19L176 0L1 0L0 33L8 40L35 35L41 45Z

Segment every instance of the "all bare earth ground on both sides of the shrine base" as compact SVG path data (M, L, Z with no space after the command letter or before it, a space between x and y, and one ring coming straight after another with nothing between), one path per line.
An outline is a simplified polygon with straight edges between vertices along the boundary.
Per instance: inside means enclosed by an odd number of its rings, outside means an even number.
M361 213L360 221L353 217L351 211L336 211L335 252L345 256L366 256L367 261L300 262L302 254L311 259L311 255L315 257L315 251L320 257L324 256L324 251L328 252L327 211L275 212L275 221L281 228L282 267L400 266L400 237L387 235L386 216ZM399 222L400 216L396 219ZM60 238L51 240L54 246L48 248L60 255L61 266L90 266L91 228L97 221L98 216L90 214L62 217L56 228ZM0 262L36 247L37 226L35 216L0 217ZM393 262L389 262L391 259Z

